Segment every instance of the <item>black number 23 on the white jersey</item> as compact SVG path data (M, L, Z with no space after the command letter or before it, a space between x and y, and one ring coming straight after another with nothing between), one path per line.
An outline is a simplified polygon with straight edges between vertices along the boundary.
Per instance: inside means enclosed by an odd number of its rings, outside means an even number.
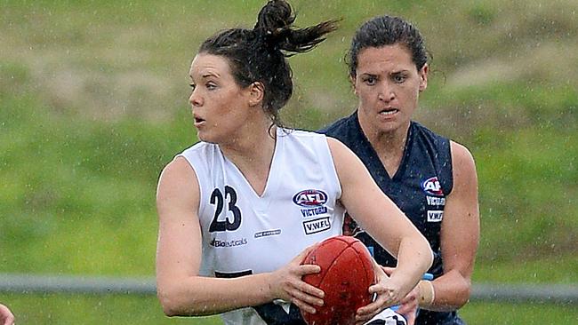
M225 219L219 220L219 216L221 216L221 212L223 211L223 207L225 206L225 199L229 200L229 204L227 209L233 214L233 221L229 221L229 217L227 217L227 213L225 213ZM219 188L215 188L213 190L213 194L211 194L211 204L216 204L217 209L214 212L213 221L211 222L211 226L209 226L209 233L213 232L225 232L225 231L233 231L237 230L239 226L241 226L241 210L237 207L237 192L235 192L235 188L231 186L225 186L225 196L221 193Z

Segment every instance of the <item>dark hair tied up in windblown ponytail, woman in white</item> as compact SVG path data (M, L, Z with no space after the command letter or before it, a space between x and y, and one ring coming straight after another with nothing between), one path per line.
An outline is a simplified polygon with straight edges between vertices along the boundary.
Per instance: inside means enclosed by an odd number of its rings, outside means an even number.
M295 14L285 0L269 0L253 29L231 28L207 39L199 49L229 59L241 87L260 82L265 88L263 109L280 125L278 110L293 95L292 70L286 58L309 52L337 28L328 20L309 28L293 28Z

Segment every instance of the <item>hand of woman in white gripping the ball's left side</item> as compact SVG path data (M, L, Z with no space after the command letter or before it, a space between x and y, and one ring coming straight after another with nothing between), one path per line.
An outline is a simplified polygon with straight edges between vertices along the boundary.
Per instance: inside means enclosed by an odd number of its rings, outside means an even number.
M269 289L273 297L290 301L307 313L316 313L315 306L322 306L325 296L323 290L301 280L303 275L321 272L319 266L301 265L309 251L315 247L316 245L309 246L287 265L271 273L271 281L269 282Z

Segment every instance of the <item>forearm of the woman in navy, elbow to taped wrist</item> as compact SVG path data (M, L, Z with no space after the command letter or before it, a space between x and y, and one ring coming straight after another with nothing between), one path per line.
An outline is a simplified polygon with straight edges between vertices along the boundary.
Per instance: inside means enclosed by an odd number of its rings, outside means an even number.
M457 271L443 274L434 281L433 301L420 307L438 312L450 312L459 309L470 299L471 282Z

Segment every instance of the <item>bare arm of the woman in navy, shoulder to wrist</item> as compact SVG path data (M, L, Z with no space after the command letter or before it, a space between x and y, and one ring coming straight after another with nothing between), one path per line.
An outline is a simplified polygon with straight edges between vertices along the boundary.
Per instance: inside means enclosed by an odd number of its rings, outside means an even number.
M474 159L467 148L452 142L454 189L448 195L441 226L444 274L432 282L435 299L429 310L451 311L470 298L479 242L478 177Z

